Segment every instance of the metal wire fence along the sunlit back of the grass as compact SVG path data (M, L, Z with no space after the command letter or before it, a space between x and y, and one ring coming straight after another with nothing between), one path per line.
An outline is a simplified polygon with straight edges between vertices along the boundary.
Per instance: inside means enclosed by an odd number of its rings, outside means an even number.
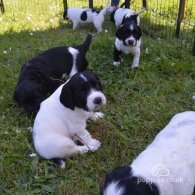
M179 41L184 48L190 49L195 55L195 0L125 0L126 6L135 11L146 6L141 15L142 30L155 37L173 42ZM106 0L1 0L1 11L16 15L39 13L40 7L45 14L61 15L64 3L68 7L102 8ZM22 3L21 3L22 2ZM120 1L122 4L124 1ZM3 4L2 4L3 3ZM3 5L3 6L2 6Z

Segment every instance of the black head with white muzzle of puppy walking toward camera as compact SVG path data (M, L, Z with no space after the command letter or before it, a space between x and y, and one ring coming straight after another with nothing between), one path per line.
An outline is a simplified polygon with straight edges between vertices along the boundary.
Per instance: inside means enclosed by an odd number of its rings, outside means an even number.
M117 38L123 41L125 46L135 47L137 41L140 40L142 36L141 29L137 25L137 16L138 15L132 15L130 17L124 16L121 26L116 32Z

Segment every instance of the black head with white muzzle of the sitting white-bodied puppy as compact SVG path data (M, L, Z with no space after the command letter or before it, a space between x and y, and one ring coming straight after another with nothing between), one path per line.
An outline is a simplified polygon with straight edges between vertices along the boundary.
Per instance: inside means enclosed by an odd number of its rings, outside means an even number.
M60 102L67 108L94 111L106 104L98 76L92 72L76 73L63 86Z

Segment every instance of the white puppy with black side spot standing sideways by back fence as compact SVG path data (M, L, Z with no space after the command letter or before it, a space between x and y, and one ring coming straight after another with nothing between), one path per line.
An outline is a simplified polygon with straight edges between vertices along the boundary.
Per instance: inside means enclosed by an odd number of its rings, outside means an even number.
M69 19L73 23L73 30L79 24L93 23L97 31L101 32L103 31L102 25L109 3L110 0L107 0L106 6L101 11L89 8L68 8L64 11L64 19Z

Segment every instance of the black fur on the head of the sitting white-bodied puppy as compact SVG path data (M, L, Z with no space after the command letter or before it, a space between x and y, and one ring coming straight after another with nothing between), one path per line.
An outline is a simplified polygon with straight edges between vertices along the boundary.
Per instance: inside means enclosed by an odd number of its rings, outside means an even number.
M87 79L84 80L81 74ZM93 88L102 91L102 86L98 76L92 72L77 73L71 77L62 88L60 102L67 108L74 110L75 107L88 111L87 97Z

